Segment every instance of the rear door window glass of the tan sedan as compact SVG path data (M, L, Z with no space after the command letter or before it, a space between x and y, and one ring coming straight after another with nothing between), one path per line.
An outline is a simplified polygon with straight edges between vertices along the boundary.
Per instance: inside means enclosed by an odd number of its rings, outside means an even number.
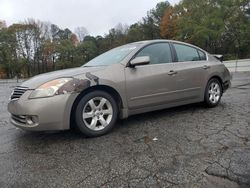
M200 56L196 48L183 44L173 44L173 45L175 47L178 62L200 60Z

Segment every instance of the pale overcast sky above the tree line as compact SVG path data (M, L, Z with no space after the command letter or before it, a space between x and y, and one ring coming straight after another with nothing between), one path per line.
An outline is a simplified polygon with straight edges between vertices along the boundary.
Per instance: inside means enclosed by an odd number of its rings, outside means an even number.
M0 0L0 20L7 25L34 18L60 28L85 27L104 35L118 23L133 24L163 0ZM173 5L180 0L169 0Z

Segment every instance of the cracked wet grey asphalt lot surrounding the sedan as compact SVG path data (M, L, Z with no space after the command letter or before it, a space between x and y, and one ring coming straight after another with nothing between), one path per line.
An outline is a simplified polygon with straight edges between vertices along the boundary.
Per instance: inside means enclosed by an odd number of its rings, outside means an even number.
M132 116L109 134L31 133L8 122L0 82L0 187L250 187L250 73L221 104Z

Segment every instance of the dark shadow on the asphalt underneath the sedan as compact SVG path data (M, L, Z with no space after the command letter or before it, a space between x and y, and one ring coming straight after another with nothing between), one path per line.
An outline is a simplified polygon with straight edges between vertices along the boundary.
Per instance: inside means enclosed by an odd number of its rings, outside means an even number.
M223 104L220 104L219 106L222 106ZM134 124L136 122L145 122L152 119L161 119L166 116L177 116L182 113L190 113L193 114L197 110L209 110L209 108L206 108L204 104L202 103L196 103L196 104L189 104L179 107L173 107L153 112L147 112L143 114L133 115L130 116L127 119L118 120L115 128L108 133L107 135L98 137L98 138L90 138L86 137L85 135L81 134L79 131L75 129L70 129L66 131L45 131L45 132L28 132L19 130L21 134L18 134L18 142L23 141L25 143L30 144L39 144L39 142L47 141L49 143L53 142L59 142L59 141L77 141L77 140L87 140L87 139L101 139L106 137L112 137L112 135L120 134L121 131L124 129L130 129L131 126L134 127ZM132 123L131 123L132 122ZM123 129L124 128L124 129ZM140 125L137 127L140 128ZM35 141L35 142L34 142Z

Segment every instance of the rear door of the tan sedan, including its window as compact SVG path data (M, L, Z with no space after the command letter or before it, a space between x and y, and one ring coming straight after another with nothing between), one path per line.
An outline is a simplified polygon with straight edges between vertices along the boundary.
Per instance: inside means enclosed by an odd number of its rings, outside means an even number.
M177 95L181 100L203 100L203 88L209 70L206 53L183 43L172 43L176 54L173 70Z

